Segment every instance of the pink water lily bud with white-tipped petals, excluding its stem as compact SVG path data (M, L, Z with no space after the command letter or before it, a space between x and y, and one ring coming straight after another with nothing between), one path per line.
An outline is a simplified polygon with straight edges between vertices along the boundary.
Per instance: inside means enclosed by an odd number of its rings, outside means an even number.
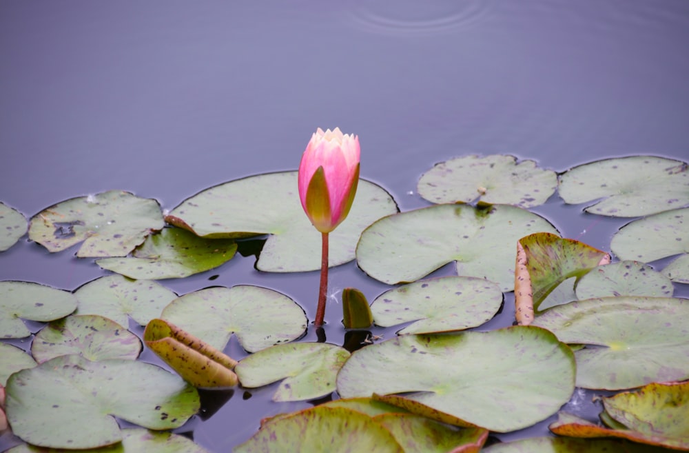
M359 137L318 128L299 165L299 197L316 230L329 233L349 214L359 181Z

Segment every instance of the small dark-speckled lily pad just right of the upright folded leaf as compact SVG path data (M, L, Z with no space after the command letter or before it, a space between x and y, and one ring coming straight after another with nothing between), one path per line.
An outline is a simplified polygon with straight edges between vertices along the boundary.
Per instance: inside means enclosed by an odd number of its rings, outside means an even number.
M577 284L577 299L606 296L672 297L672 281L650 265L638 261L599 266L582 276Z

